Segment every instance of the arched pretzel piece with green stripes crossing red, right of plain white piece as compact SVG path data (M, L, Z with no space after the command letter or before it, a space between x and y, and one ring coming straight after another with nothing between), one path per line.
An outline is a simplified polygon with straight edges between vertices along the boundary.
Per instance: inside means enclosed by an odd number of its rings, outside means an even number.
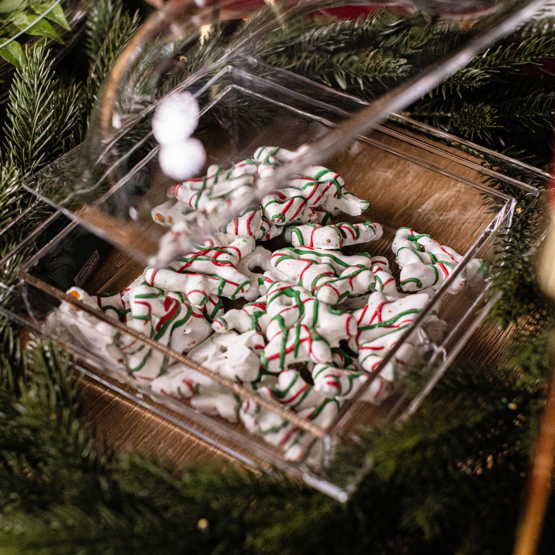
M277 374L294 362L331 362L331 349L314 330L297 324L273 337L264 347L260 360L267 372Z

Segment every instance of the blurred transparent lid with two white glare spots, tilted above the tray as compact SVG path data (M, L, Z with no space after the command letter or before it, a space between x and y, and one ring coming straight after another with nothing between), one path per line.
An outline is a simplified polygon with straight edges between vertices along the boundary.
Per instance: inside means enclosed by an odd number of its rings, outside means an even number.
M422 17L429 17L430 29L448 31L441 47L415 49L406 66L410 69L400 72L395 87L388 90L391 83L376 79L366 91L370 103L338 110L333 125L278 153L273 149L283 147L279 135L266 137L264 144L240 144L245 122L262 124L265 117L276 115L265 114L257 102L257 95L268 94L263 90L266 84L248 77L241 84L237 72L233 83L226 82L223 73L231 67L240 71L260 65L269 37L281 41L285 52L287 29L344 4L383 19L377 26L380 32L376 26L368 30L366 16L357 20L361 48L369 57L372 47L387 42L392 25L406 26L408 39L415 18L399 18L398 13L388 18L388 12L377 11L399 5L388 1L268 2L250 12L239 11L236 0L209 7L168 2L150 16L119 57L95 106L84 145L28 186L140 262L163 266L225 231L231 222L248 219L249 209L267 195L286 189L289 201L295 197L292 190L302 190L306 179L321 180L319 171L356 137L436 87L477 52L532 17L543 3L401 3L408 14L429 14ZM275 90L282 85L287 83L272 84ZM248 99L235 94L241 87L249 89ZM215 129L223 130L220 142L214 139ZM348 190L339 181L334 186L340 195L341 188ZM288 216L280 210L258 229L273 233L287 223Z

